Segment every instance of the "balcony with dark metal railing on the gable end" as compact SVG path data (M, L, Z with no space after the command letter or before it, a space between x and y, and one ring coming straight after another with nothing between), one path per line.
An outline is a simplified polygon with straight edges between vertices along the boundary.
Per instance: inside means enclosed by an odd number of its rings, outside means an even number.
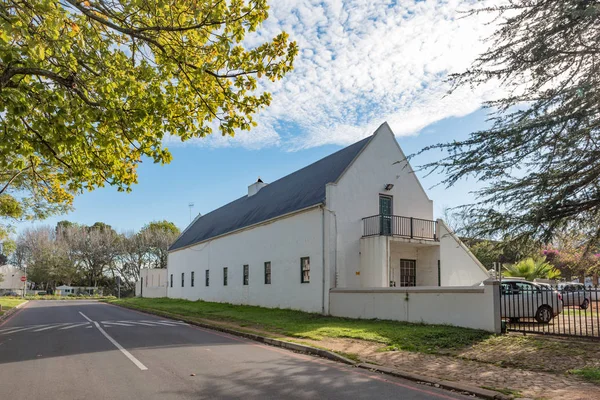
M398 236L439 241L437 221L399 215L373 215L363 218L363 237Z

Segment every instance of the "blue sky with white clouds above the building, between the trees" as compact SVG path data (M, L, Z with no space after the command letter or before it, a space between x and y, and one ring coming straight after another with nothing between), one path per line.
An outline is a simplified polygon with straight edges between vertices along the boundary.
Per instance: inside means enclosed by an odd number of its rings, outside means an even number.
M194 213L207 213L266 182L304 167L371 134L387 121L405 153L465 138L485 127L481 104L501 92L491 82L448 95L446 77L464 71L485 50L494 30L485 14L461 11L493 0L277 0L269 19L246 37L260 45L285 30L298 43L294 70L275 83L261 83L272 104L256 116L258 127L234 138L211 136L181 144L167 138L167 166L144 163L133 193L101 188L75 200L75 211L35 224L69 219L102 221L119 231L167 219L183 228ZM430 152L413 164L439 157ZM423 175L423 174L419 174ZM423 179L435 213L473 200L476 185L446 190L442 177ZM20 223L18 230L31 226Z

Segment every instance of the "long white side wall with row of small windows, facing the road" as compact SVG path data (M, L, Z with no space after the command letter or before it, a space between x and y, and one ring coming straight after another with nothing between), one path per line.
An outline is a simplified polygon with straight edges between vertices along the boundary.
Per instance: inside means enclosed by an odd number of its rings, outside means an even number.
M173 251L168 258L168 297L321 312L323 307L323 213L319 207L287 218ZM300 281L300 258L310 257L310 283ZM271 284L264 263L271 262ZM244 286L243 265L249 265ZM223 267L228 285L223 285ZM210 286L205 286L205 271ZM195 286L190 274L195 272ZM181 287L181 273L185 285Z

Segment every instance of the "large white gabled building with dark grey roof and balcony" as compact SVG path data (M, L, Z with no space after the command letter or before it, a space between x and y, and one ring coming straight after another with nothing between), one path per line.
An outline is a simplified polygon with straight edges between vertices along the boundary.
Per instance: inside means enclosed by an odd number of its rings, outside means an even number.
M194 220L170 248L167 293L329 313L339 289L464 287L487 278L433 220L433 202L386 123Z

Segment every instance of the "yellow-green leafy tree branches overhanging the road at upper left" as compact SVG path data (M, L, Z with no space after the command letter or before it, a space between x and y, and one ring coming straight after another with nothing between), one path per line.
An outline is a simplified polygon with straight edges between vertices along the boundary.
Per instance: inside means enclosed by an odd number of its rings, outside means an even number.
M144 157L170 162L168 135L251 129L259 83L298 52L285 32L249 45L267 17L266 0L0 2L0 217L129 191Z

